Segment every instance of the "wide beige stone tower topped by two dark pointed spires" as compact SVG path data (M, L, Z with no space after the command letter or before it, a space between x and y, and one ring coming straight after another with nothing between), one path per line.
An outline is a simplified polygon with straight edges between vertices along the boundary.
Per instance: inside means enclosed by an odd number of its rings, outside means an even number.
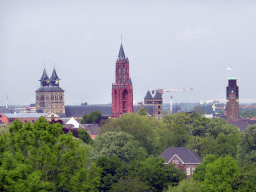
M49 79L44 69L41 87L36 90L36 110L43 113L65 113L64 90L59 87L59 78L55 68Z

